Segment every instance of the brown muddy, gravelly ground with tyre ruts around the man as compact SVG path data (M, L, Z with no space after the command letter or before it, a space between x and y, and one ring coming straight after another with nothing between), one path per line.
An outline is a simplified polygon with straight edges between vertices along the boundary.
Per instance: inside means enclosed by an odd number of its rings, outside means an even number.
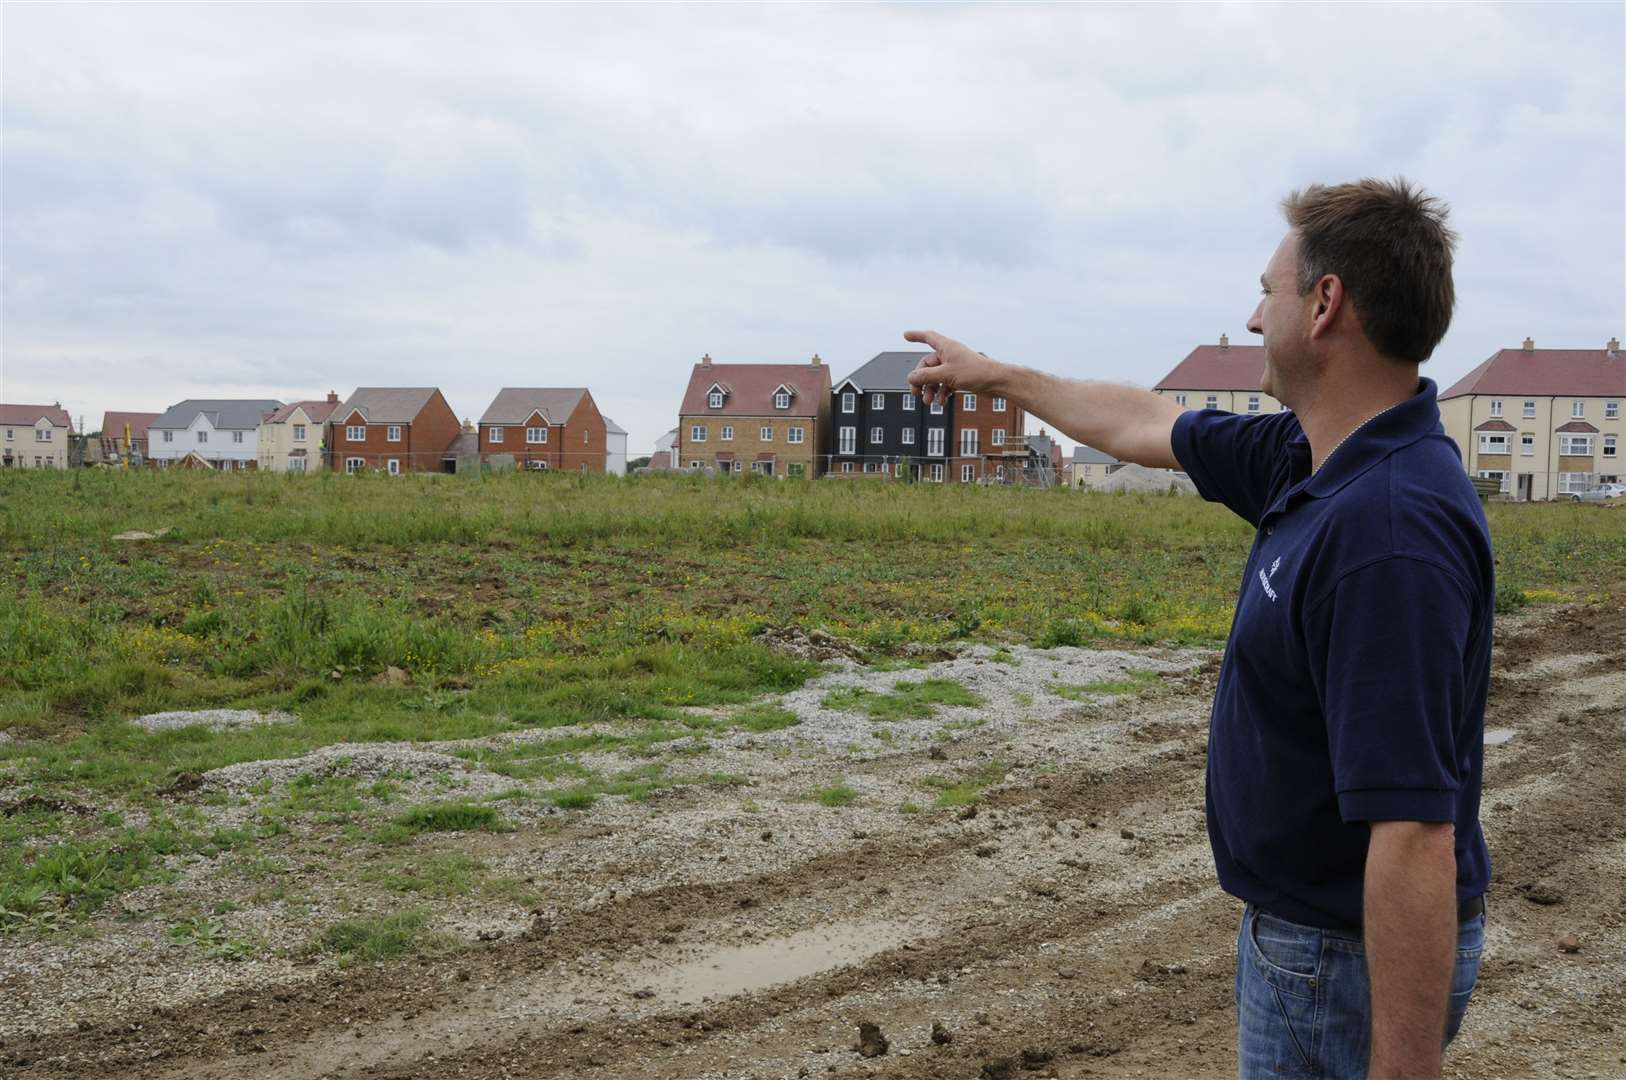
M229 979L159 956L140 982L117 956L41 966L0 942L0 1065L193 1080L1234 1075L1239 904L1213 883L1202 810L1216 659L1146 662L1169 672L1148 693L862 755L824 747L839 769L802 732L797 755L756 748L748 799L691 786L459 838L556 888L525 919L465 925L468 943L444 955ZM1626 1075L1626 613L1506 620L1486 727L1512 734L1486 748L1488 945L1447 1075ZM898 812L920 776L990 761L1010 771L974 812ZM836 773L852 805L797 795ZM880 1028L883 1056L860 1056L860 1023Z

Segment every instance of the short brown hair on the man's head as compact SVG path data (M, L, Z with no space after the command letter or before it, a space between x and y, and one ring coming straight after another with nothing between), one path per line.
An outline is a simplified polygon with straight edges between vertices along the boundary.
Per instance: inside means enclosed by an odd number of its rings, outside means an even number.
M1311 184L1283 198L1281 211L1299 234L1299 296L1335 273L1377 351L1428 359L1457 303L1446 203L1397 177Z

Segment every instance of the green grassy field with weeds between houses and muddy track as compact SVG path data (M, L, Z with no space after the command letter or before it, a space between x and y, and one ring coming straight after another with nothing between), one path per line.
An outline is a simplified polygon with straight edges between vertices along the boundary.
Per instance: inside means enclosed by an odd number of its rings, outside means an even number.
M1502 610L1626 582L1626 514L1491 506L1491 525ZM112 538L132 529L169 532ZM608 727L483 763L566 782L551 795L566 808L728 784L663 763L600 776L576 755L793 722L751 703L818 665L759 644L767 626L828 631L876 665L966 639L1218 644L1249 540L1198 499L1072 491L0 473L0 930L72 925L189 857L236 852L252 867L301 815L382 808L367 834L379 844L502 828L489 805L392 807L389 781L293 784L234 828L161 797L210 769L597 722ZM400 673L380 678L389 668ZM956 686L922 686L847 704L886 719L961 701ZM689 706L740 708L719 719ZM221 734L127 724L182 708L296 721ZM815 799L841 805L850 790ZM402 888L433 893L467 870L420 867ZM211 925L200 912L177 934L208 942ZM371 940L330 947L367 953Z

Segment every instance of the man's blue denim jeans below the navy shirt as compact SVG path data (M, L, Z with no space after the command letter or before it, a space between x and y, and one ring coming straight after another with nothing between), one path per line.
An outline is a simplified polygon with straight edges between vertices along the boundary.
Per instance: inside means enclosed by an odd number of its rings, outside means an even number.
M1480 974L1485 916L1457 932L1446 1043L1457 1036ZM1359 934L1320 930L1249 904L1236 938L1237 1075L1364 1080L1372 987Z

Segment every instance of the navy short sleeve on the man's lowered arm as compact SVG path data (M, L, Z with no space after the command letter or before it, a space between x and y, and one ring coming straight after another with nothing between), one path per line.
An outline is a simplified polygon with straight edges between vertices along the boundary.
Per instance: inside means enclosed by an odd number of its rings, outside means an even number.
M1455 820L1468 590L1444 566L1392 555L1345 574L1304 620L1340 817Z

